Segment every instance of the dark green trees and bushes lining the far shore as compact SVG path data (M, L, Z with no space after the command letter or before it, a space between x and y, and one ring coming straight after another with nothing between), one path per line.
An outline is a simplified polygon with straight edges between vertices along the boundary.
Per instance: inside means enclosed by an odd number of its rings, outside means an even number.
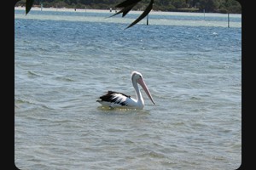
M94 8L116 9L115 5L124 0L34 0L33 6L44 8ZM133 10L144 10L149 0L142 0ZM26 0L20 0L15 6L26 6ZM206 13L241 14L241 4L236 0L155 0L155 11L180 11Z

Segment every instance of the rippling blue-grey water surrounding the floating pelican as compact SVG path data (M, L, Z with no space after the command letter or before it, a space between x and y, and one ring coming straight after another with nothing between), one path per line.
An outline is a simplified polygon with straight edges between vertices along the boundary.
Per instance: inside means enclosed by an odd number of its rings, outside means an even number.
M124 30L137 14L15 9L15 165L239 167L241 15L228 28L223 15L168 14ZM142 111L102 108L96 99L108 90L135 97L131 71L156 105L142 90Z

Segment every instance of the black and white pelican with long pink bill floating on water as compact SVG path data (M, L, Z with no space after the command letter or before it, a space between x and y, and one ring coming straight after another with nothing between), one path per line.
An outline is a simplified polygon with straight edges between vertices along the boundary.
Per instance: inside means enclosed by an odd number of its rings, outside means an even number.
M102 104L103 106L108 106L110 108L131 108L131 109L143 109L144 107L144 99L141 94L138 85L144 89L145 93L148 95L148 98L154 104L154 100L148 90L146 83L143 81L143 75L137 71L131 72L131 82L133 88L135 89L137 99L131 98L131 96L122 94L115 91L108 91L107 94L102 95L97 102Z

